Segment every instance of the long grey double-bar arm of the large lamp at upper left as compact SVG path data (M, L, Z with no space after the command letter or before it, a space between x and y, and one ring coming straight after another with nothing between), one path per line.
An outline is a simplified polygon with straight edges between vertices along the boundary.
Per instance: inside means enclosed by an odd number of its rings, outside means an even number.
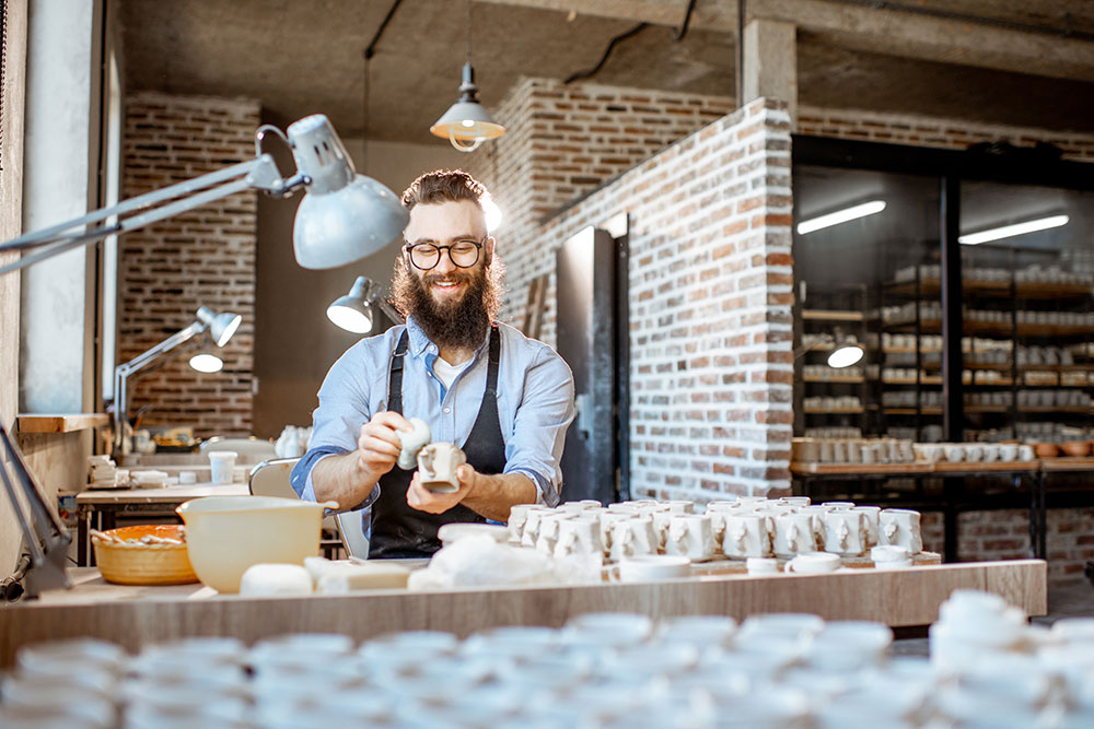
M222 184L225 180L232 181ZM254 160L241 162L224 169L177 183L162 190L147 192L119 202L116 205L103 208L86 215L59 223L53 227L36 233L28 233L13 238L8 243L0 244L0 252L43 248L43 250L34 255L24 256L0 268L0 275L9 271L26 268L39 260L62 254L72 248L102 240L110 235L136 231L150 223L177 215L178 213L193 210L213 200L219 200L246 189L265 190L271 195L286 195L304 184L306 184L306 178L302 175L294 175L291 178L283 179L278 172L277 165L274 163L274 158L268 154L263 154ZM211 185L219 186L210 188ZM163 204L168 200L179 198L179 196L186 197ZM73 228L100 223L115 215L127 215L149 208L151 209L146 212L125 217L110 225L98 225L83 232L73 231Z

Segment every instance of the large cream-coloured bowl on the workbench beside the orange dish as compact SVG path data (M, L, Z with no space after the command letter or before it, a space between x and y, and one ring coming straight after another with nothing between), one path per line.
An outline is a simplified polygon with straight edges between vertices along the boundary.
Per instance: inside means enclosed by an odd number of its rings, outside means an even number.
M278 496L206 496L177 509L186 524L190 564L205 585L218 592L238 592L247 567L264 562L304 564L319 553L324 508Z

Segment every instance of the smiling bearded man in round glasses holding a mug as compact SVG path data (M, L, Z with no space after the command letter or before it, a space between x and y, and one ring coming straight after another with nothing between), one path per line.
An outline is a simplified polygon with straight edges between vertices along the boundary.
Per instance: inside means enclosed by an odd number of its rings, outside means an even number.
M555 506L573 378L558 354L496 320L503 267L487 231L489 193L437 171L403 193L406 245L394 304L407 317L351 346L327 373L311 448L292 484L302 498L370 508L370 557L421 557L453 521L507 521L514 504ZM458 491L426 490L394 468L408 418L467 456Z

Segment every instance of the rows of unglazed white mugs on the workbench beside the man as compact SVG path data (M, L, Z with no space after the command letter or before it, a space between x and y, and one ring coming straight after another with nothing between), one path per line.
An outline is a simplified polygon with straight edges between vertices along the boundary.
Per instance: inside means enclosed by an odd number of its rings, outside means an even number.
M693 562L729 557L793 557L818 551L861 556L876 545L922 551L920 515L910 509L811 505L807 496L742 497L712 502L695 514L693 502L625 502L602 507L574 502L558 508L514 506L510 538L556 557L572 554L621 561L647 554Z

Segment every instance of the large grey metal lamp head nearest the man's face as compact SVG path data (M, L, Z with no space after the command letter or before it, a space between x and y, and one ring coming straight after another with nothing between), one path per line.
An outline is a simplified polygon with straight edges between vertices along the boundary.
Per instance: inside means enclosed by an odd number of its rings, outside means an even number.
M286 130L307 193L296 209L292 247L307 269L352 263L403 233L409 216L399 199L376 180L358 175L330 121L304 117Z

